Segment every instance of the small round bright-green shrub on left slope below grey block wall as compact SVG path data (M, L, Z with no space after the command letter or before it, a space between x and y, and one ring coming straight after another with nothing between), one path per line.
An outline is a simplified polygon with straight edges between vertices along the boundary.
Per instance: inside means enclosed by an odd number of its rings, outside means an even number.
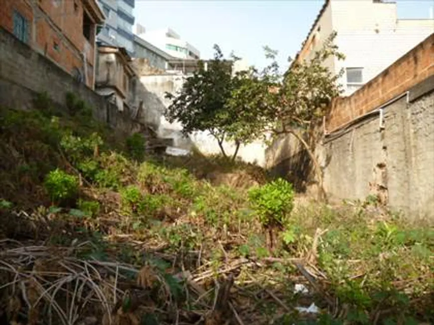
M78 193L78 178L56 168L46 175L44 187L52 202L73 199Z

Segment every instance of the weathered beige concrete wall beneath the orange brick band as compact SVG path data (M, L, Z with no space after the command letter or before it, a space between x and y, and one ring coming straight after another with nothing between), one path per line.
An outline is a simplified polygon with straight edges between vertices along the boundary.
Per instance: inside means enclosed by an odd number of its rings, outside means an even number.
M324 187L329 195L364 199L375 193L410 218L434 219L431 79L410 89L408 97L384 108L383 130L380 114L373 114L342 135L325 141L318 153L330 157L323 166ZM408 99L412 101L407 102Z

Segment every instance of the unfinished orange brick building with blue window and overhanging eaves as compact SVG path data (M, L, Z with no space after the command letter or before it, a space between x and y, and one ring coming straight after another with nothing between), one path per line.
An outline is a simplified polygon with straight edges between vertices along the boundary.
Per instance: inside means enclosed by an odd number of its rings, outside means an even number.
M97 25L104 19L96 0L1 0L0 5L0 27L92 89Z

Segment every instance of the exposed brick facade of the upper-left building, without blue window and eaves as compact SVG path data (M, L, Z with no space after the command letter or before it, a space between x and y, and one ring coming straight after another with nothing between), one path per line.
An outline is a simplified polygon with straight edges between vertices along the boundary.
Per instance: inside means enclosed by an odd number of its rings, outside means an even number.
M74 68L84 73L82 53L85 52L87 85L93 88L94 37L88 41L83 35L82 0L56 3L52 0L39 0L39 9L36 9L27 0L3 0L0 6L0 26L13 33L13 11L18 11L28 22L28 44L68 73L73 73Z

